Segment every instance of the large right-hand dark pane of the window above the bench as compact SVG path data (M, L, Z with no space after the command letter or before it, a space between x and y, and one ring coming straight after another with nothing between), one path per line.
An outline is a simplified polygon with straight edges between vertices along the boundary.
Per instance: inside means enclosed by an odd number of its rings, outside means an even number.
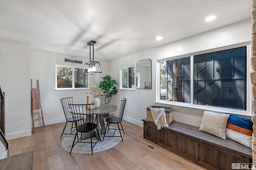
M194 104L246 109L246 47L194 56Z

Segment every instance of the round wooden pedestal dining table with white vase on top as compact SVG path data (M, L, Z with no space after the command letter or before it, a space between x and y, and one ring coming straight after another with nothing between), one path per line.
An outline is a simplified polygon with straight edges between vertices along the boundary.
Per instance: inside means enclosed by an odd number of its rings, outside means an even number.
M118 107L113 104L100 104L99 108L93 109L93 114L96 115L97 129L100 134L105 132L105 122L103 115L105 113L111 113L113 111L116 111L117 109ZM94 133L94 136L98 136L96 132ZM83 133L82 139L86 139L88 137L90 137L90 133Z

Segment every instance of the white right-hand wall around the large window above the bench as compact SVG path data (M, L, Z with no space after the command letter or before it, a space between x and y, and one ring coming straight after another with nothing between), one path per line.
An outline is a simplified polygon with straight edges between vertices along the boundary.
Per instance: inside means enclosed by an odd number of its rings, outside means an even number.
M156 47L147 51L136 53L122 59L110 62L110 75L119 82L120 67L136 64L142 59L152 60L152 90L119 90L116 99L121 100L122 97L127 98L124 119L142 126L142 119L146 118L146 107L151 105L170 106L164 104L156 104L156 65L158 59L165 59L190 53L196 53L204 50L234 45L251 41L252 22L250 19L240 21L238 23L228 25L219 29L214 29L199 35L194 35L174 43ZM157 43L157 42L156 42ZM118 100L114 100L113 104L118 104ZM200 126L202 121L203 110L192 109L180 106L174 107L174 120Z

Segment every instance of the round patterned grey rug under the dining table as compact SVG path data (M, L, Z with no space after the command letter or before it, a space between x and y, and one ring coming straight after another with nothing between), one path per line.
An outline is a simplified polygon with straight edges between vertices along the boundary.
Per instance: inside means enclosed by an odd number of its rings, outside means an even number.
M114 128L112 126L110 126L110 128ZM114 130L110 129L108 131L108 133L106 133L106 136L111 136L113 135ZM122 132L121 132L122 133ZM74 132L75 134L75 132ZM78 139L80 138L81 133L78 133ZM103 139L104 133L100 135L101 139ZM116 130L116 132L114 133L114 136L120 136L120 133L118 130ZM62 141L62 148L68 152L70 152L70 149L72 147L73 141L74 141L74 137L75 135L67 135L63 141ZM93 153L96 152L102 152L104 150L108 150L114 146L116 146L120 141L121 141L121 137L105 137L104 141L102 141L102 143L100 141L98 141L98 143L96 143L96 145L93 147ZM77 141L77 137L76 137L76 141ZM75 142L76 142L75 141ZM90 142L91 139L84 139L82 141L86 141L86 142ZM92 141L96 142L97 138L96 137L92 137ZM92 144L94 145L94 144ZM77 143L73 149L72 152L74 154L91 154L91 144L90 143Z

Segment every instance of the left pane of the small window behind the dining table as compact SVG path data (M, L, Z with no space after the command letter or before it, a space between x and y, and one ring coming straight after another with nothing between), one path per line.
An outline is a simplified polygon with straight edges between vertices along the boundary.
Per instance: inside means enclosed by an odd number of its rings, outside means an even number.
M72 68L57 67L57 88L72 88Z

